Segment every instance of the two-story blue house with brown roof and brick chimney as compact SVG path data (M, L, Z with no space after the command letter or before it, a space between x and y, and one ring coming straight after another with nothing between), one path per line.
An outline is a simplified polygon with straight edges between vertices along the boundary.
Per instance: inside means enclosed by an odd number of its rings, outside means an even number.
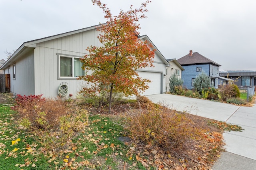
M194 80L201 72L205 72L210 77L212 87L218 88L220 64L204 57L198 52L193 53L192 50L189 51L188 55L181 57L177 61L185 69L181 73L185 88L194 88Z

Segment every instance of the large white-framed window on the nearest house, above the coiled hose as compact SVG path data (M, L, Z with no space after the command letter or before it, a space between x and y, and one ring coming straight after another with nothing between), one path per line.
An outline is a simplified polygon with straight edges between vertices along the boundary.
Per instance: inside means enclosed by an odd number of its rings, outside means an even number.
M58 55L58 78L76 78L84 76L80 57L72 55Z

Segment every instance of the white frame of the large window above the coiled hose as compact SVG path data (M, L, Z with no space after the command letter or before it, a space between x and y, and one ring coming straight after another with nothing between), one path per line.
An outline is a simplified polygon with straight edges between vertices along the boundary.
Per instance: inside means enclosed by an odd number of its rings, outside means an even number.
M60 53L56 53L56 55L57 55L57 64L58 64L57 79L58 80L76 80L77 77L74 77L74 58L81 59L82 57L75 56L75 55L60 54ZM72 58L72 76L60 76L60 57ZM84 70L84 72L85 72L85 70Z

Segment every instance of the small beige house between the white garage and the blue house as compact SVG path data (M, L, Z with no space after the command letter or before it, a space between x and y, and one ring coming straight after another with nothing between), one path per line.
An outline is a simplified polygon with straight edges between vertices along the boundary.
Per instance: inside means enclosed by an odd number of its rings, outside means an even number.
M166 85L165 90L166 92L169 92L170 86L169 86L169 78L172 76L172 74L175 74L178 78L181 78L181 72L184 71L184 68L180 65L180 63L176 59L167 59L170 66L166 67Z

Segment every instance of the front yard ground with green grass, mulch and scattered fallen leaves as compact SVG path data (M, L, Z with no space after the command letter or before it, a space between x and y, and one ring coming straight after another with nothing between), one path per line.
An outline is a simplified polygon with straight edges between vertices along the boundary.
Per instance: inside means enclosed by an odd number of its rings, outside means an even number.
M163 110L162 115L159 114L161 116L166 116L165 113L173 114L175 119L172 120L175 121L172 123L181 122L178 126L172 127L176 133L172 134L175 140L171 141L177 146L172 147L172 143L166 141L167 138L164 138L157 128L164 126L156 124L140 132L136 129L140 127L139 124L129 121L130 113L136 113L137 118L141 116L140 113L148 115L160 113L153 112L152 108L138 108L134 103L123 103L114 105L112 114L108 114L108 108L104 106L92 107L88 104L79 105L76 102L68 103L71 108L88 111L88 123L74 136L68 137L66 143L60 145L59 149L46 146L46 141L39 140L36 136L35 129L31 131L20 125L20 116L17 116L16 111L10 109L10 106L1 105L0 169L210 169L224 151L223 130L209 125L209 122L215 122L211 119L176 112L165 107L154 107ZM152 123L152 120L156 119L146 120ZM165 123L164 119L162 123ZM181 129L176 128L179 126ZM130 127L134 129L129 129ZM170 129L166 129L168 130ZM188 133L190 131L191 133ZM135 135L138 132L142 134ZM121 138L125 140L120 141L120 137L126 138ZM52 140L60 138L60 135L47 137ZM160 138L161 140L158 140ZM165 147L161 142L171 147Z

